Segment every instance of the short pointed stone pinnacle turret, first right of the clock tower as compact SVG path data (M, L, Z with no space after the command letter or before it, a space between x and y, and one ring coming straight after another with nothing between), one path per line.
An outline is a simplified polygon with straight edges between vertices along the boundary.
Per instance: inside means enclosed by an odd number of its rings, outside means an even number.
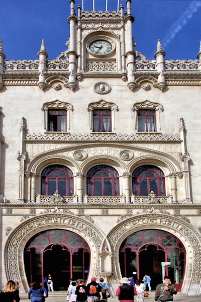
M156 58L156 69L157 71L160 72L160 74L158 75L158 88L160 90L163 90L165 88L165 75L164 75L164 71L165 71L165 66L164 66L164 56L165 56L165 52L162 50L162 46L160 43L160 40L158 39L158 43L157 43L157 50L156 53L154 54L155 58Z

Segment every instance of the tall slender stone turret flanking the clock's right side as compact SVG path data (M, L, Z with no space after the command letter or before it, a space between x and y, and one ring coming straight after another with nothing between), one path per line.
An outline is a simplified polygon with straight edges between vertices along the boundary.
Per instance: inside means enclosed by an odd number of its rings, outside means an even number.
M127 4L127 15L125 17L126 21L126 65L128 70L128 87L133 90L136 87L135 83L135 51L133 49L133 37L132 37L132 23L134 22L134 17L131 15L131 0L126 1Z

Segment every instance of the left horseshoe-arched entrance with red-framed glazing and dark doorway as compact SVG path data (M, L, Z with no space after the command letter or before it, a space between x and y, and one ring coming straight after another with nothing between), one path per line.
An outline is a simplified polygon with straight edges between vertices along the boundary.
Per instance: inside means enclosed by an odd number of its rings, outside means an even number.
M66 290L69 279L87 279L90 250L83 238L71 231L52 229L38 233L25 246L28 283L47 274L53 276L54 290Z

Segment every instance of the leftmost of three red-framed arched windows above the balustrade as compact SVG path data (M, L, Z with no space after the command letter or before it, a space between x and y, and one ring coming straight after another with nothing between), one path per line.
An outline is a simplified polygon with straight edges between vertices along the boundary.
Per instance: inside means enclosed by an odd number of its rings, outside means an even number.
M41 195L53 195L56 190L64 196L73 194L72 171L62 165L49 166L41 174Z

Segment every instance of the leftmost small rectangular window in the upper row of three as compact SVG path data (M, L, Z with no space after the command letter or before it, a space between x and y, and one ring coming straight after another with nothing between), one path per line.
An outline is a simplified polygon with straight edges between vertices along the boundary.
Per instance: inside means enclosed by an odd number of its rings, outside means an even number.
M48 110L48 131L66 132L66 110Z

